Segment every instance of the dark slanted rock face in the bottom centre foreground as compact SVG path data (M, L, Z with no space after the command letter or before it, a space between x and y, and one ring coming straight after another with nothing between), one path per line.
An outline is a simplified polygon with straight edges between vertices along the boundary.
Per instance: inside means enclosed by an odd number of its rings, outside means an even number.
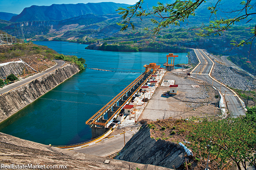
M185 157L185 150L179 144L152 139L150 128L144 124L115 159L177 169Z

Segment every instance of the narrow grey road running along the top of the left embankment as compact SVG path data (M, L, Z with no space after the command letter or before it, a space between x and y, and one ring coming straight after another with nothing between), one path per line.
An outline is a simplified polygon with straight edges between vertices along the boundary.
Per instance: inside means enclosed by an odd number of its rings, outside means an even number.
M26 79L22 79L22 81L18 81L18 82L14 83L14 84L6 86L6 87L4 87L4 88L2 88L0 90L0 93L4 94L4 93L6 93L6 92L8 92L8 91L18 87L18 86L24 85L24 84L26 84L26 83L28 83L28 82L30 82L32 80L35 80L35 79L37 79L40 76L46 75L49 72L53 71L54 69L57 69L57 68L61 67L63 64L65 64L65 61L62 61L62 60L54 60L54 61L57 63L57 65L51 67L50 69L48 69L48 70L46 70L44 72L41 72L41 73L36 74L34 76L28 77Z

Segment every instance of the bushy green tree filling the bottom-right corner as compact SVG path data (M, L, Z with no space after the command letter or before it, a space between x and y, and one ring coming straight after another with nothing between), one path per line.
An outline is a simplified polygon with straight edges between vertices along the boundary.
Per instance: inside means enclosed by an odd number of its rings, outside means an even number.
M238 169L246 162L255 165L256 129L245 123L244 117L218 121L204 120L191 133L193 151L201 157L219 162L220 168L236 163ZM208 148L210 148L208 150Z

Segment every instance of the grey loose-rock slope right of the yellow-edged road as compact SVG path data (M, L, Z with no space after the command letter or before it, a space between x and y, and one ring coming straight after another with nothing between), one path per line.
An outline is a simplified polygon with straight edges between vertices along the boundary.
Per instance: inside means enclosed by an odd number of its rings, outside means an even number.
M252 79L244 72L216 62L211 76L229 87L241 90L249 90L252 83ZM252 85L252 88L255 88L255 85Z

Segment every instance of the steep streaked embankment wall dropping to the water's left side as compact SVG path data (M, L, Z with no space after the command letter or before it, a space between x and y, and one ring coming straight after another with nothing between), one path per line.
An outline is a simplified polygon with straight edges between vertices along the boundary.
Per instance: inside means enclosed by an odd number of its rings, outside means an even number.
M78 71L80 70L77 65L66 64L47 75L0 95L0 122L72 77Z

